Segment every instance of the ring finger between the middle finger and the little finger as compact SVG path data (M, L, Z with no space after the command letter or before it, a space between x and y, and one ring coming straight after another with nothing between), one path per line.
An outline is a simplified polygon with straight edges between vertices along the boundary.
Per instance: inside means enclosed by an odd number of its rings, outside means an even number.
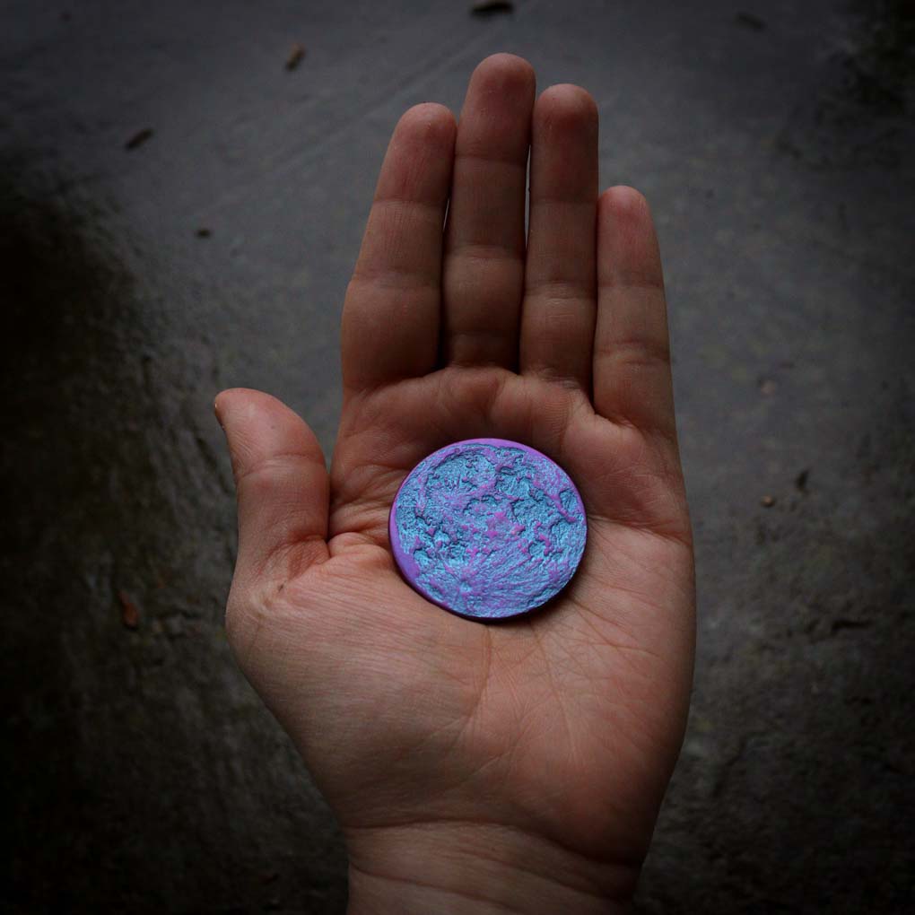
M594 339L597 105L553 86L533 109L521 367L586 391Z

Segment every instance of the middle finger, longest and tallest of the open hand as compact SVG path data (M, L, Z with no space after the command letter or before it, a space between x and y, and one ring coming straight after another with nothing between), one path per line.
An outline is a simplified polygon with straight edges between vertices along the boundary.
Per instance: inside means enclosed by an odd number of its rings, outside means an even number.
M496 54L474 70L460 114L445 252L447 361L518 360L524 275L524 198L534 75Z

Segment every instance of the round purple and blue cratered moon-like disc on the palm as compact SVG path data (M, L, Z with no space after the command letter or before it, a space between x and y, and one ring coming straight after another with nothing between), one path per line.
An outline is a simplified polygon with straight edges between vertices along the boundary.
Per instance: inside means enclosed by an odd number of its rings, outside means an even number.
M587 538L585 507L565 470L501 438L456 442L417 464L389 528L406 580L475 619L545 604L575 575Z

